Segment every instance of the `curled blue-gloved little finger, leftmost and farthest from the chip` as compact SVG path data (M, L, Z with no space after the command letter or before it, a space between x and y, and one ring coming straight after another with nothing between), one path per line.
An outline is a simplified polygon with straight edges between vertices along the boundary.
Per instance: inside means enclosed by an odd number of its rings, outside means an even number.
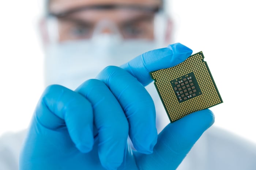
M81 152L93 148L93 109L82 95L60 85L45 89L36 111L38 125L58 131L67 126L70 138Z

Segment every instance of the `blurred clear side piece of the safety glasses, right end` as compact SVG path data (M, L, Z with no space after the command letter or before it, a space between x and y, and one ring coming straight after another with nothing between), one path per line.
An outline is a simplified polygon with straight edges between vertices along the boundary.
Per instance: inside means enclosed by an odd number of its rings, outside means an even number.
M166 46L166 31L168 25L168 16L164 12L158 12L154 18L154 37L157 44Z

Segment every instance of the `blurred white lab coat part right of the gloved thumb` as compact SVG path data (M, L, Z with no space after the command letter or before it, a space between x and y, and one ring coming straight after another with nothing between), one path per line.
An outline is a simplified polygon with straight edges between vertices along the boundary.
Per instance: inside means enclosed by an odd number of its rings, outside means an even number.
M255 170L256 144L217 127L209 128L177 170Z

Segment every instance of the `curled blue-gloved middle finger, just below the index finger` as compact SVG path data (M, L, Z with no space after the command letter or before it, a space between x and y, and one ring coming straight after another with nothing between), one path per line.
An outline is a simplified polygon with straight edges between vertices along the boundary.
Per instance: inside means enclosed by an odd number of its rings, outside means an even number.
M98 74L117 98L129 123L129 136L142 153L152 153L157 142L155 107L144 86L124 69L109 66Z

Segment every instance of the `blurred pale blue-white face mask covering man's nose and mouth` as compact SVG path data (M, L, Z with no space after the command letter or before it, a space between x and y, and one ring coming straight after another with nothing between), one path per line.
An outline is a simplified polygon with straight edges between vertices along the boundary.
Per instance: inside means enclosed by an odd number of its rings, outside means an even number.
M155 41L123 41L114 34L54 43L45 49L45 85L60 84L74 90L84 81L95 78L108 65L120 66L146 51L161 47L163 45Z

